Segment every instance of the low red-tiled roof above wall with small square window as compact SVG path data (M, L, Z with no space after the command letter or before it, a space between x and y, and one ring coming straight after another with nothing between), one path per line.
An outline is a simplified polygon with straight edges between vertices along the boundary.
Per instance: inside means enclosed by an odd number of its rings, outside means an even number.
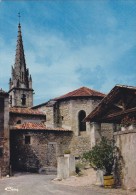
M23 123L23 124L16 124L15 126L11 127L12 130L50 130L50 131L71 131L68 129L63 128L51 128L46 127L43 123Z

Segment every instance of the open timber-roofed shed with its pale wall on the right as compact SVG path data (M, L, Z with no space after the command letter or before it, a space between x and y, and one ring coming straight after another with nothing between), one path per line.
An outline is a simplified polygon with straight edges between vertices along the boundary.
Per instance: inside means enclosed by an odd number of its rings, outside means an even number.
M116 182L136 189L136 87L116 85L85 120L114 123L114 139L123 157Z

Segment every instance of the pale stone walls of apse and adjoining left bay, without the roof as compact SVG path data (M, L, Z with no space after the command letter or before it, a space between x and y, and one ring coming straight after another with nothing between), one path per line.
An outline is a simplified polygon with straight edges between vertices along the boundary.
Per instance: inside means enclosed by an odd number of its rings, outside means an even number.
M73 131L69 149L72 154L79 156L91 149L91 128L86 123L86 131L79 131L78 114L84 110L87 116L99 102L100 100L92 98L60 100L53 106L42 105L38 110L46 114L47 127L62 127Z

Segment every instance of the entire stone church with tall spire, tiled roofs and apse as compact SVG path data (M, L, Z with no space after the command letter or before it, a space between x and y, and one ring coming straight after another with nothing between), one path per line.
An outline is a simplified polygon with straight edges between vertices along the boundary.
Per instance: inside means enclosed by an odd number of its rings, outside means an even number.
M43 89L44 90L44 89ZM9 92L0 90L0 173L38 172L42 167L57 167L57 157L66 152L80 158L98 141L97 123L84 118L105 94L80 87L72 92L33 106L32 76L27 68L21 24L15 63L9 79ZM102 124L102 134L112 137L112 125Z

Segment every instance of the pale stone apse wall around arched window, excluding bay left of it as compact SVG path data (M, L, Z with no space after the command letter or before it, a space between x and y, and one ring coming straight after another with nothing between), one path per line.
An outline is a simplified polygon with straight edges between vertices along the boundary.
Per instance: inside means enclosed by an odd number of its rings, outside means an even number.
M78 114L81 110L84 110L87 116L99 101L91 98L82 98L59 103L59 126L71 129L74 132L70 150L77 157L91 149L90 124L86 123L86 131L79 132Z

